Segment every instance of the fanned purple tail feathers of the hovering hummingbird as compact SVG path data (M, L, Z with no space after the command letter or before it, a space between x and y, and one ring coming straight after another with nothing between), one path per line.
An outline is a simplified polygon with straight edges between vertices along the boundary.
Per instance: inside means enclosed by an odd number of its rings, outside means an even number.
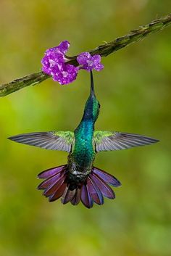
M62 204L71 202L78 205L80 200L87 208L104 204L104 197L114 199L115 194L110 186L121 186L120 181L104 170L93 167L88 174L86 182L78 184L75 189L70 189L67 182L67 165L44 170L38 174L38 178L44 178L38 189L43 189L43 195L49 197L49 202L53 202L61 197ZM110 186L109 186L110 185Z

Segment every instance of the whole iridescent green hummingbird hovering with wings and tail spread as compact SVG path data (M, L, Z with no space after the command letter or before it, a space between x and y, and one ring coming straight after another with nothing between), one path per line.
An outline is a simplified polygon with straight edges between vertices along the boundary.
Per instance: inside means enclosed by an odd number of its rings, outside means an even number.
M134 146L153 144L159 140L135 133L118 131L94 131L99 117L100 104L96 99L93 73L91 71L91 92L86 101L80 124L72 131L48 131L24 133L9 137L12 141L43 149L69 152L67 164L44 170L38 178L44 179L38 189L53 202L61 198L62 204L81 201L87 208L104 204L104 197L114 199L110 186L121 186L111 174L93 166L96 154L101 151L130 149Z

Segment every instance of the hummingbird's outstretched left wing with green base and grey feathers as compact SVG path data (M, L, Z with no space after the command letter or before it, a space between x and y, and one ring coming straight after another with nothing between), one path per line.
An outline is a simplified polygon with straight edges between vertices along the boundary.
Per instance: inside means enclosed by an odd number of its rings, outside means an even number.
M38 133L24 133L9 137L12 141L31 146L42 147L43 149L53 149L70 152L75 141L72 131L48 131Z

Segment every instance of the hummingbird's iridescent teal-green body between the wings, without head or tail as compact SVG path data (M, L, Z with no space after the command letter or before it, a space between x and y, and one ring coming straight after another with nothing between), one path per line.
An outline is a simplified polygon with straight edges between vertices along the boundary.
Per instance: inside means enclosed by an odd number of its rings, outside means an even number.
M73 188L86 182L91 173L95 150L93 149L93 120L82 120L75 130L75 144L68 156L68 182Z

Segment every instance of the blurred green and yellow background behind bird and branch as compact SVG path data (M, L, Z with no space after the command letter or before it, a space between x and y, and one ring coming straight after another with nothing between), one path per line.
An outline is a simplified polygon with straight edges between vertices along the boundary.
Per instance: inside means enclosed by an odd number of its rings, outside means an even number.
M93 49L167 15L170 0L0 1L0 81L41 69L46 49L70 41L69 54ZM116 199L88 210L49 203L38 173L67 153L15 144L8 136L71 130L89 94L80 71L69 86L53 80L0 99L0 255L171 255L171 28L102 60L94 73L101 115L96 129L154 136L160 143L101 152L95 165L122 187Z

